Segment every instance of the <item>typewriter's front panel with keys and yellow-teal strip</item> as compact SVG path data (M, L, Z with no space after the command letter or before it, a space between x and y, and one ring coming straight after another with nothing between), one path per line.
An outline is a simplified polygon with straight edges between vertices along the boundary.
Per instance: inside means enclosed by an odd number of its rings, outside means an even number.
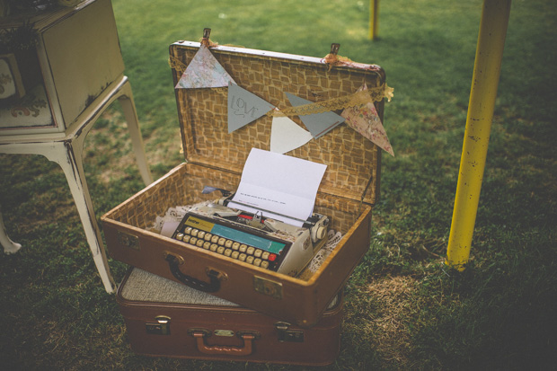
M292 245L253 228L193 213L184 216L172 238L273 271Z

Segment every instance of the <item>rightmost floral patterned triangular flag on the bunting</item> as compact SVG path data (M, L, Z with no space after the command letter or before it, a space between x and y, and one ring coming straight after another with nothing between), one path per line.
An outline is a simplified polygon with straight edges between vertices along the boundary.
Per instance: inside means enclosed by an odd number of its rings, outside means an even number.
M367 85L363 84L358 92L367 90ZM346 119L346 123L350 128L358 131L364 137L371 140L380 148L383 148L390 155L394 155L393 147L389 142L385 128L379 119L376 106L373 100L368 96L368 102L356 107L349 107L342 111L342 117Z

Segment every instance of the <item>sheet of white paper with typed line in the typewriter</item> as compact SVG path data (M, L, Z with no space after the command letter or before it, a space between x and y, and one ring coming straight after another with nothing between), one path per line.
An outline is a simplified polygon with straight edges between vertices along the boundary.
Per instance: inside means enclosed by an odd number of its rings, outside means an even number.
M302 226L314 210L326 165L252 148L229 208ZM290 217L286 217L290 216ZM301 221L300 221L301 220Z

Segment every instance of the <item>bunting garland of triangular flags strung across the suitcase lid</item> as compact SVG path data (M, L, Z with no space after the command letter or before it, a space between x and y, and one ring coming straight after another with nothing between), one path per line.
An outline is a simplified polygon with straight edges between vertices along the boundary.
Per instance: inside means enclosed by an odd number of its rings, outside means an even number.
M232 76L218 63L209 50L210 44L201 42L190 64L183 68L180 61L170 60L176 70L183 70L176 89L228 87L228 133L243 128L255 119L272 117L270 151L285 154L304 146L313 138L319 138L346 121L350 128L367 137L390 155L393 148L385 128L377 115L374 102L387 99L391 102L393 88L383 84L367 88L364 83L357 92L321 102L310 102L294 94L286 93L292 105L277 109L259 96L238 86ZM181 67L180 69L178 67ZM343 110L340 115L333 110ZM309 131L299 127L289 117L298 116Z

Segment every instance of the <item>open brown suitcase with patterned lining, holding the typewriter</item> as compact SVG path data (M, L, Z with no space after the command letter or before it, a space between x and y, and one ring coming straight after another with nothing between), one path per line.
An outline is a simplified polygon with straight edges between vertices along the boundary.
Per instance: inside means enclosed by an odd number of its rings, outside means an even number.
M198 49L198 42L171 45L174 84L183 72L176 66L187 66ZM236 84L279 108L289 107L285 92L322 102L353 94L363 83L377 91L386 86L385 73L376 65L332 66L322 58L224 46L210 50ZM215 199L201 193L204 186L235 190L252 147L270 147L267 116L228 134L226 88L176 89L175 94L186 162L102 216L111 257L196 288L209 286L213 295L263 314L314 325L369 248L379 189L378 148L342 123L286 154L327 165L314 210L329 216L330 227L343 234L320 269L293 278L151 230L168 208ZM383 98L375 104L383 117ZM303 126L297 117L291 119Z

